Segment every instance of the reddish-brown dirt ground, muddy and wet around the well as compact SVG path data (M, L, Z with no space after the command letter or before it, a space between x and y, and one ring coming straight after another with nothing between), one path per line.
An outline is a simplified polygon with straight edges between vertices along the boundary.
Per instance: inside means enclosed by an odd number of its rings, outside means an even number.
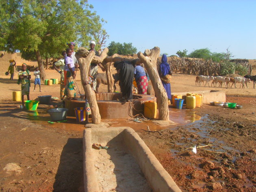
M54 70L46 70L46 74L47 78L59 78ZM17 76L11 81L2 73L0 80L0 191L82 192L84 124L76 123L74 118L65 123L47 123L50 105L39 104L37 112L20 110L17 106L21 102L12 101L12 92L20 91ZM172 126L127 119L102 121L111 127L135 129L183 192L256 191L253 83L248 89L198 87L194 75L180 73L173 74L172 81L172 92L226 91L227 101L242 104L243 109L204 104L194 110L177 110L170 106L170 119L177 123ZM82 92L79 71L77 82ZM42 91L37 87L36 92L30 92L30 99L39 95L59 97L59 85L42 85ZM100 91L107 91L107 86L101 85ZM51 105L61 106L61 101L52 101ZM161 134L141 130L147 125ZM195 145L209 146L197 149L196 156L192 156L187 148Z

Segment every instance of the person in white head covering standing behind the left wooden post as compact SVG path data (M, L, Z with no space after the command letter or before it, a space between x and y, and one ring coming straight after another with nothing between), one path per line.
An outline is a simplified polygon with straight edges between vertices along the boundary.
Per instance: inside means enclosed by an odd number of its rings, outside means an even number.
M95 45L96 45L95 41L90 41L90 48L91 49L89 49L89 51L94 51L96 56L100 56L100 53L95 50ZM100 66L100 68L104 72L105 69L102 66L102 64L99 63L98 65ZM96 91L96 86L97 86L96 78L97 78L97 75L98 75L98 65L96 63L91 63L91 70L90 70L90 74L89 74L89 76L93 79L92 89L95 93L97 93L97 91Z

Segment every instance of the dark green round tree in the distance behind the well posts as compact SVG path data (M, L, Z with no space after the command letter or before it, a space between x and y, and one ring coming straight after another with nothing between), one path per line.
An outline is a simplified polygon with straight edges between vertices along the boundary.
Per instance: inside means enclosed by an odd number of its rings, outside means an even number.
M129 55L137 53L137 48L132 46L132 43L115 43L115 41L111 41L108 45L108 56L112 56L113 54L119 55Z

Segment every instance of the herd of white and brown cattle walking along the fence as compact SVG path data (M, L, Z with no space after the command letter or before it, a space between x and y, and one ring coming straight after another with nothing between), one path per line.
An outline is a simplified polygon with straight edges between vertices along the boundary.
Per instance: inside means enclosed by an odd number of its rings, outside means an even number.
M195 85L198 85L198 86L202 86L202 83L204 86L206 86L206 83L208 84L208 86L210 87L209 85L209 82L212 80L212 84L211 86L217 86L217 84L219 83L219 87L222 87L222 84L224 83L225 84L225 87L228 88L232 88L233 84L234 84L234 87L236 88L236 83L241 83L240 84L240 88L241 88L241 85L243 85L242 87L245 88L245 85L246 87L248 88L247 86L247 82L251 82L253 81L253 88L255 88L255 84L256 84L256 76L244 76L243 78L241 77L235 77L235 78L228 78L228 77L222 77L222 76L197 76L195 78ZM205 84L204 84L205 82ZM232 85L230 86L230 83L232 83ZM245 85L244 85L245 84Z

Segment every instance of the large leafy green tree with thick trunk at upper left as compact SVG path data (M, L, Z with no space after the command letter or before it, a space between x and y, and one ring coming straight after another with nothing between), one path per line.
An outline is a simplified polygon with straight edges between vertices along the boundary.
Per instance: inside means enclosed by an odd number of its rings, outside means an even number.
M0 49L36 57L42 79L42 57L59 56L69 41L82 46L91 39L98 42L95 34L104 22L87 0L6 0L0 7Z

